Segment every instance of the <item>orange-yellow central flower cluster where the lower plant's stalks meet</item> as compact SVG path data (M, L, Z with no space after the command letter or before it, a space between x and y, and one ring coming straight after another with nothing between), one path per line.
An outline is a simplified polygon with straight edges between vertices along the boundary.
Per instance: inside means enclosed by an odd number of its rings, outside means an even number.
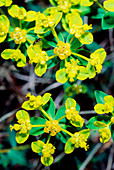
M44 127L45 133L50 133L51 136L55 136L60 131L61 127L59 126L59 122L57 120L46 121Z

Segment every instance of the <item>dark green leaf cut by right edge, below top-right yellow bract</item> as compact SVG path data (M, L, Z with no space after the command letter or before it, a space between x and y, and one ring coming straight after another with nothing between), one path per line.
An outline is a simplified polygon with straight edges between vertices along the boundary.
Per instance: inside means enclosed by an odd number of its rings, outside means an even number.
M102 17L102 29L114 28L114 12L106 12Z

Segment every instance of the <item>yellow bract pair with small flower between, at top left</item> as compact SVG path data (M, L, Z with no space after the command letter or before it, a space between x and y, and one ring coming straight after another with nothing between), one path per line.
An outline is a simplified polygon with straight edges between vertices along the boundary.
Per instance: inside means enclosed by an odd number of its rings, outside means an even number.
M27 12L25 8L19 7L18 5L12 5L8 9L8 12L13 18L18 18L29 22L34 21L37 14L35 11Z

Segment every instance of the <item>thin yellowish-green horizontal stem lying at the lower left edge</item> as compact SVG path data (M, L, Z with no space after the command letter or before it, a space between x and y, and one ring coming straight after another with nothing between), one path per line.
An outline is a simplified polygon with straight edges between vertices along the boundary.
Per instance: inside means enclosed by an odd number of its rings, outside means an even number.
M13 149L13 150L24 150L24 149L29 149L30 148L30 145L23 145L23 146L16 146L16 147L13 147L13 148L10 148L10 149ZM0 150L0 153L7 153L10 151L10 149L1 149Z

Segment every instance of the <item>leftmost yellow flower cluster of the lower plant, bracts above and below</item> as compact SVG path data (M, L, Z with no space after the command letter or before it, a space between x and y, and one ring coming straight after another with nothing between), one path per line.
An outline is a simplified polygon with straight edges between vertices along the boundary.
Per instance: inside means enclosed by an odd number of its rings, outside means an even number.
M29 137L29 130L32 128L30 117L26 111L20 110L16 113L16 118L18 124L10 125L10 129L11 131L12 129L18 131L16 134L17 143L24 143Z

